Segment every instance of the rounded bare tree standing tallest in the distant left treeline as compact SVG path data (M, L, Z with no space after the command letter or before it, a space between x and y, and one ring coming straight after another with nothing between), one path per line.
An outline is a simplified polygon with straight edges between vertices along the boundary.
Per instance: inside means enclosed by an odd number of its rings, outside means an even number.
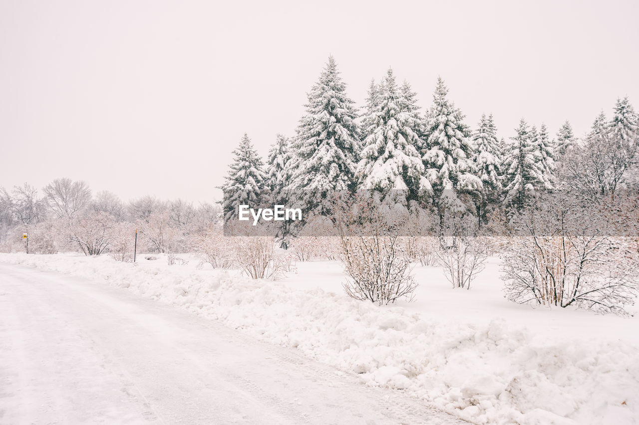
M50 210L58 218L75 218L91 201L91 190L83 181L55 179L43 191Z

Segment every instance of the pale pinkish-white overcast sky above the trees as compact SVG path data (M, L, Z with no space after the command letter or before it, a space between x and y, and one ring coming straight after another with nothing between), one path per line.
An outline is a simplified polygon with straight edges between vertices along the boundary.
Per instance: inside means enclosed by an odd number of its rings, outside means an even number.
M0 0L0 186L220 198L242 134L293 135L329 54L358 105L389 66L424 108L441 75L502 137L639 108L636 0L275 3Z

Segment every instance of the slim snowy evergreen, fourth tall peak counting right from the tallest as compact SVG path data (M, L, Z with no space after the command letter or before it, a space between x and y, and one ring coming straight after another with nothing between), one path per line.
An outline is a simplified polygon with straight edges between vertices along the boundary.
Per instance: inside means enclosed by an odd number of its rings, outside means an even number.
M486 216L490 204L495 204L502 192L502 146L497 140L497 128L493 121L493 114L486 117L482 114L479 128L472 136L475 144L473 163L477 168L477 175L482 181L482 200L479 203L478 216L480 220ZM503 142L503 139L502 139ZM480 221L481 223L481 221Z

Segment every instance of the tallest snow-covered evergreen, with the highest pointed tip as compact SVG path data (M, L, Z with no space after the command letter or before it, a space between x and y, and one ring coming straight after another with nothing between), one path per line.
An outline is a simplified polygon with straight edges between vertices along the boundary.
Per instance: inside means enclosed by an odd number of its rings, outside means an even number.
M358 126L353 100L346 96L346 84L339 76L332 56L308 93L306 114L300 119L297 137L291 145L291 184L307 210L330 202L334 191L354 189L357 167Z

